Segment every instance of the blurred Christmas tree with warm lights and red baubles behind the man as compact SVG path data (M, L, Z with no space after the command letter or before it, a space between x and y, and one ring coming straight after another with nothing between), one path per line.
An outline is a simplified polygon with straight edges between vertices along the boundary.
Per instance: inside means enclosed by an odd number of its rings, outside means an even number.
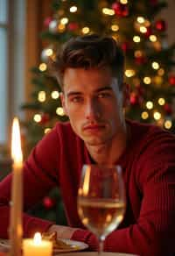
M67 120L59 83L48 72L49 61L54 61L67 39L94 32L112 36L125 53L125 81L130 85L126 117L175 131L175 44L168 46L167 24L160 16L166 6L164 0L53 1L54 14L45 19L41 33L45 41L41 62L32 68L31 102L23 105L32 113L31 120L25 122L27 153L57 121ZM57 213L52 213L62 209L58 193L54 190L46 196L34 214L56 220Z

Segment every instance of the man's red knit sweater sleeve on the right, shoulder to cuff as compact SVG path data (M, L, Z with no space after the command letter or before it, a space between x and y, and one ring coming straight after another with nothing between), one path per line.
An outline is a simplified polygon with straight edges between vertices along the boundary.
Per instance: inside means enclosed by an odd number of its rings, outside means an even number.
M175 140L172 136L153 140L139 153L131 170L142 198L136 223L109 234L105 251L141 256L169 256L175 252ZM130 200L136 203L133 197ZM95 235L89 231L75 231L73 239L88 243L91 250L98 247Z

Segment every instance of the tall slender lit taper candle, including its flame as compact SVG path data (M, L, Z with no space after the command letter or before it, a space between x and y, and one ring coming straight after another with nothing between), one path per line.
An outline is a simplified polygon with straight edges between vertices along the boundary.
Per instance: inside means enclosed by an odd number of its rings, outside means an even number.
M21 150L20 129L17 117L14 118L12 125L11 157L13 160L13 173L11 184L10 255L20 256L23 236L23 153Z

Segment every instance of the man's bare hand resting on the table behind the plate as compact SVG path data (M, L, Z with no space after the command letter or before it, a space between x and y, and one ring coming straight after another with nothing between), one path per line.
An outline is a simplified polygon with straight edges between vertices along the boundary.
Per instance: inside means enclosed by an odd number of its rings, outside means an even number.
M73 236L73 232L77 231L78 229L76 228L71 228L67 226L61 226L61 225L55 225L53 224L52 226L49 227L47 230L48 233L52 233L54 231L57 232L57 238L67 238L70 239Z

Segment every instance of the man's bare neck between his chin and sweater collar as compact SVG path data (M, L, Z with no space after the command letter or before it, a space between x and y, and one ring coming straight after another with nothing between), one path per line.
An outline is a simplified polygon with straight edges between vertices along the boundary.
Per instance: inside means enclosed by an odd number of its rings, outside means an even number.
M115 164L123 154L130 133L128 125L125 124L123 128L124 129L117 133L108 143L97 146L87 145L90 156L97 164Z

